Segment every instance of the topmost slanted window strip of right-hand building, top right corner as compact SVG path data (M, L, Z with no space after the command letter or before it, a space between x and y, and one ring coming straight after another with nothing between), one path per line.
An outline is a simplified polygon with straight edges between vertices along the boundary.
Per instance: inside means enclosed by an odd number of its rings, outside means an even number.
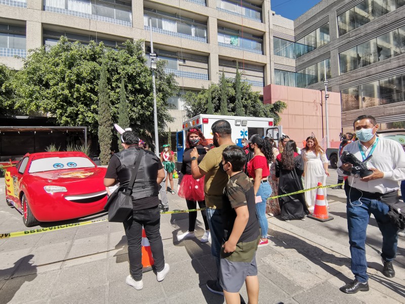
M405 0L363 0L337 16L339 36L384 16L401 6Z

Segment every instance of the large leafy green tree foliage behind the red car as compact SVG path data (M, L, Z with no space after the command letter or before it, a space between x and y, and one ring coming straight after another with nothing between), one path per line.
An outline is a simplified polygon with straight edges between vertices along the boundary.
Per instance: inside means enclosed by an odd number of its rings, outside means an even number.
M143 41L124 43L117 50L103 43L70 43L62 36L52 47L38 48L24 59L22 70L13 81L15 109L48 113L61 126L87 126L98 129L98 81L102 61L107 68L107 84L112 121L118 121L121 77L124 75L130 126L150 138L153 130L153 91L151 71L146 66ZM174 74L164 71L167 62L159 60L156 70L158 127L162 132L173 121L167 100L177 91Z

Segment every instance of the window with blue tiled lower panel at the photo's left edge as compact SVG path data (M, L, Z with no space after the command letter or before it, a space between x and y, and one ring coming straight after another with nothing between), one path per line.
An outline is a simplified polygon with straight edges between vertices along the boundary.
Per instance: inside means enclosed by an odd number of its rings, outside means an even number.
M26 56L25 27L0 24L0 56Z

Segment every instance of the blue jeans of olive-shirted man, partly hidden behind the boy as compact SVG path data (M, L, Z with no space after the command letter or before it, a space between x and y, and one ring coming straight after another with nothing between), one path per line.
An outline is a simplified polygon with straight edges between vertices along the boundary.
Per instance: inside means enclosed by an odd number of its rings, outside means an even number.
M217 265L217 281L219 282L221 245L224 239L224 227L222 225L222 210L207 208L208 225L211 233L211 254Z

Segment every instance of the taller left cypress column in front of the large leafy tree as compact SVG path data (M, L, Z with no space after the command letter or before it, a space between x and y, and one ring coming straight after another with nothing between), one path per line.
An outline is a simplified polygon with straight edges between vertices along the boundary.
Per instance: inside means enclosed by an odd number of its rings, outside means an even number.
M100 144L101 165L108 165L111 151L111 103L108 96L107 67L101 65L100 83L98 86L98 141Z

